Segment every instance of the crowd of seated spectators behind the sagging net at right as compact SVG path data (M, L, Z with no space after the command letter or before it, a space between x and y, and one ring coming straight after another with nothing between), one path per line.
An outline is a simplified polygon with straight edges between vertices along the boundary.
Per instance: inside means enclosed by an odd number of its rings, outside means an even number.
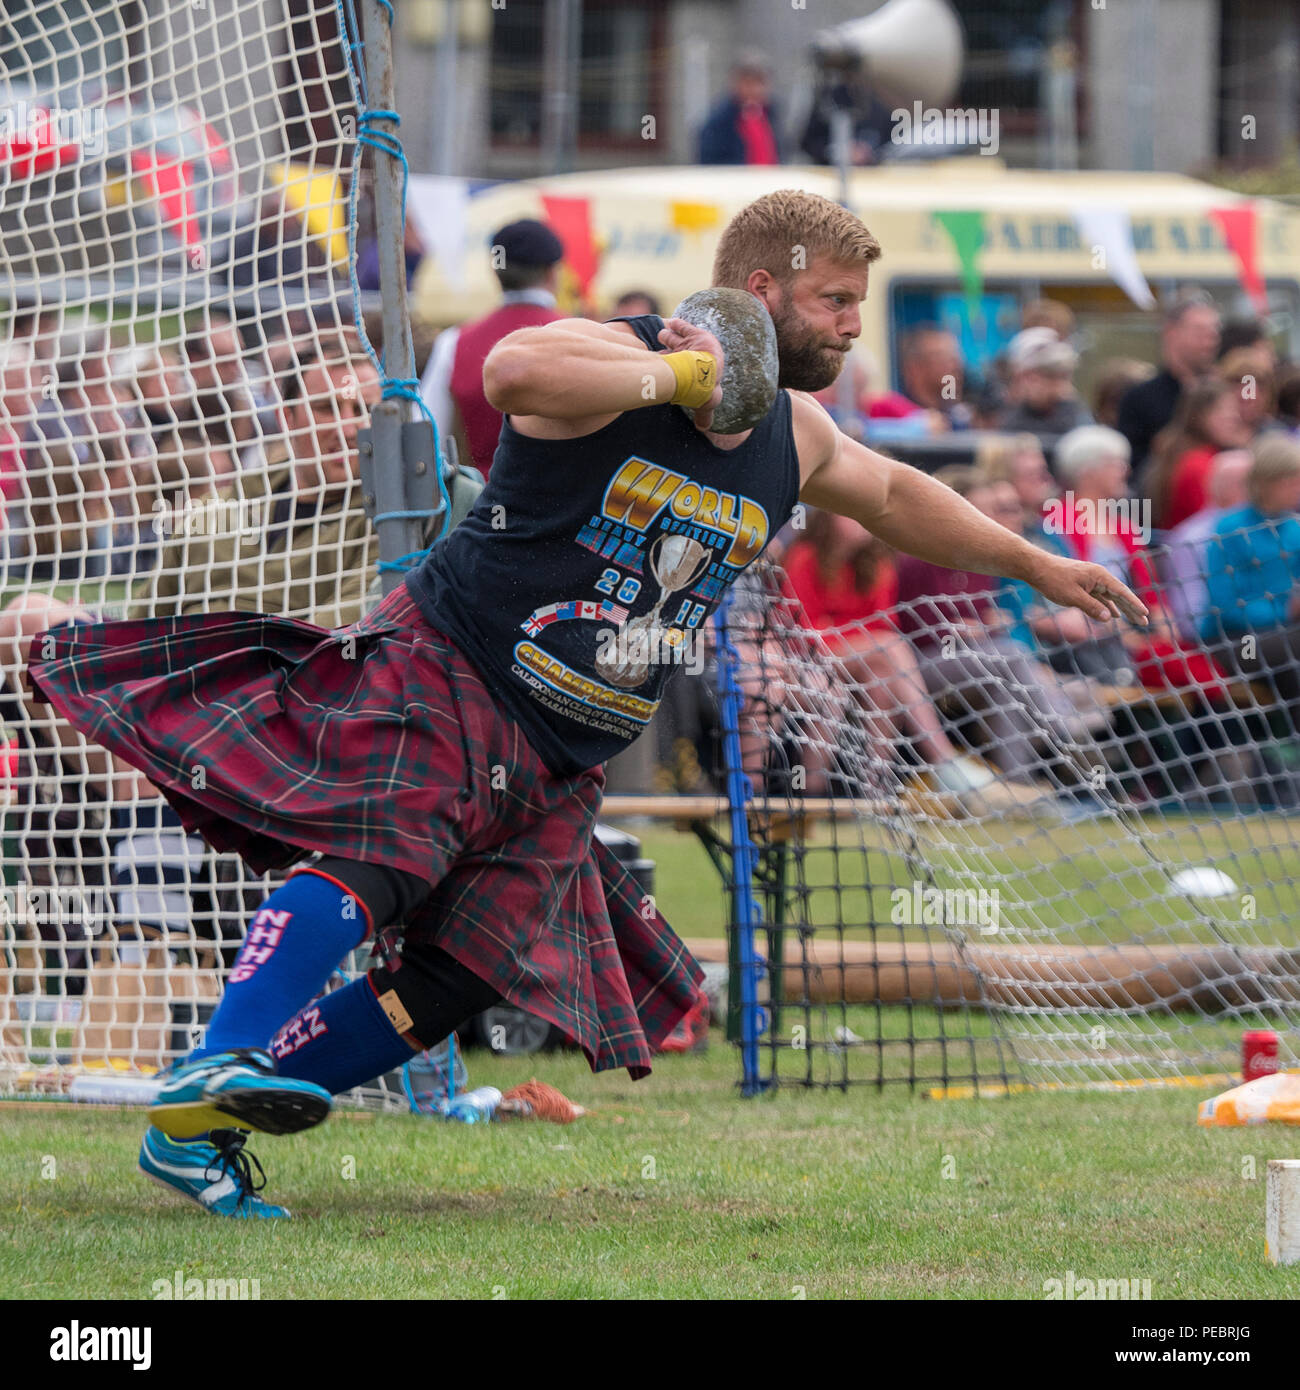
M858 359L850 386L822 400L872 446L962 455L941 481L1043 549L1103 564L1144 600L1147 627L894 556L843 518L779 538L787 592L872 706L866 724L897 726L877 746L922 763L932 787L968 783L979 748L998 795L1037 792L1072 813L1096 806L1080 770L1098 762L1137 803L1258 799L1267 787L1293 806L1300 367L1279 360L1264 321L1225 324L1194 288L1162 311L1158 363L1096 364L1090 399L1073 336L1068 306L1029 303L976 379L954 334L918 324L898 345L901 391ZM1157 728L1175 730L1180 767L1153 755Z

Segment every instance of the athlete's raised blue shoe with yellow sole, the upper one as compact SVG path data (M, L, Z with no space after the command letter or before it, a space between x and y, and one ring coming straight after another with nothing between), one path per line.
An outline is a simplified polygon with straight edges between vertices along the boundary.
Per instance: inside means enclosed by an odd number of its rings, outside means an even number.
M271 1054L261 1048L231 1048L168 1073L149 1119L170 1138L195 1138L232 1126L296 1134L328 1113L324 1087L277 1076Z

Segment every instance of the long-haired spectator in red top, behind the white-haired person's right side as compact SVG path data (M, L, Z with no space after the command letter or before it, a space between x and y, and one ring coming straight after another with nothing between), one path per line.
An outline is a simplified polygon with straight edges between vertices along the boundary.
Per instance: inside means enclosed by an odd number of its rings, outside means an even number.
M1214 456L1247 443L1250 430L1242 418L1240 393L1225 381L1193 386L1179 402L1169 428L1157 436L1151 468L1139 482L1143 496L1151 499L1155 528L1172 531L1200 512Z

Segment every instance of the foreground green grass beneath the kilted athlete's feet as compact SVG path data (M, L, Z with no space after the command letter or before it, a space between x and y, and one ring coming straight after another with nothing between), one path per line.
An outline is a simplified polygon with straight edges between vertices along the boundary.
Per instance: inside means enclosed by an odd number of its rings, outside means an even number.
M588 1105L569 1127L341 1113L261 1140L292 1222L146 1182L139 1115L7 1108L0 1297L149 1298L178 1269L263 1298L1043 1298L1068 1270L1153 1298L1300 1295L1262 1237L1292 1130L1200 1130L1196 1091L742 1101L713 1038L635 1086L470 1054L476 1084L535 1073Z

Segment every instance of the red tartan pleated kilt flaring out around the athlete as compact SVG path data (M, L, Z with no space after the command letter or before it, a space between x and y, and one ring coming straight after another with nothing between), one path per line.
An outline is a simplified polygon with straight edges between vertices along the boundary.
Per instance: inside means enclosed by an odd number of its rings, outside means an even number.
M603 770L552 773L405 587L327 632L247 613L58 628L33 688L261 873L405 869L435 940L595 1070L649 1070L699 967L592 835ZM36 659L49 649L53 655Z

